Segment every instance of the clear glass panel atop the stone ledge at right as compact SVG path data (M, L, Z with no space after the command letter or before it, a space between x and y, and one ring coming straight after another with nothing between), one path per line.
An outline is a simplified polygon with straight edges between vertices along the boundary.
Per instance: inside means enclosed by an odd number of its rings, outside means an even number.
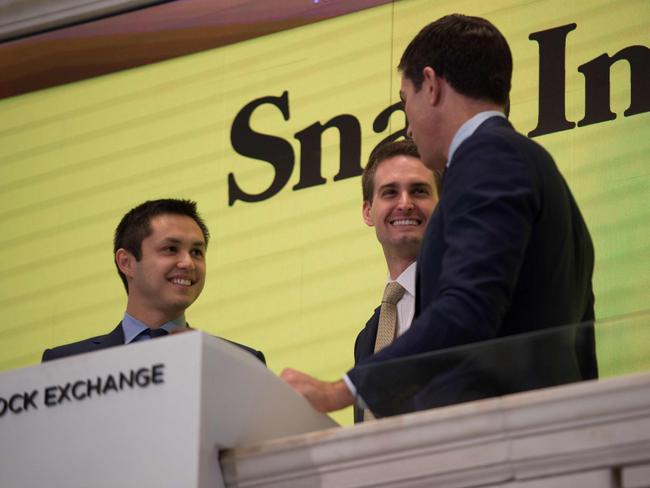
M353 381L385 417L648 370L645 312L368 364Z

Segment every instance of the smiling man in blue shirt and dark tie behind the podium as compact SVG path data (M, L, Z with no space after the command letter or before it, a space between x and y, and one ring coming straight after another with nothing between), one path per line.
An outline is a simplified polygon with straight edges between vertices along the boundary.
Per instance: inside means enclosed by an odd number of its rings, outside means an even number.
M127 293L122 321L106 335L47 349L43 361L188 330L185 310L203 290L209 237L190 200L152 200L131 209L114 240L115 266ZM235 345L264 362L260 351Z

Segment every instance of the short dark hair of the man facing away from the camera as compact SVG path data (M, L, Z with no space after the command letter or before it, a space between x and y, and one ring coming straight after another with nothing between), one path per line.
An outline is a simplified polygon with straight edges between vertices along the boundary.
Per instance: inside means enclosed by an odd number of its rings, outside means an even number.
M485 19L453 14L424 27L397 69L419 91L427 66L462 95L508 103L512 54L505 37Z

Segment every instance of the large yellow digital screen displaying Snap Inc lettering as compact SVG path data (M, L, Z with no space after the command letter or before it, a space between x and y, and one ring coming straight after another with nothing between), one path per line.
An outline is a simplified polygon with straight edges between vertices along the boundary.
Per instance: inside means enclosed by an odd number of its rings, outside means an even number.
M0 370L114 328L115 226L144 200L182 197L212 234L189 323L261 349L275 372L338 379L386 278L359 174L404 129L404 47L457 11L510 43L510 118L585 216L597 317L647 310L650 4L405 0L0 100Z

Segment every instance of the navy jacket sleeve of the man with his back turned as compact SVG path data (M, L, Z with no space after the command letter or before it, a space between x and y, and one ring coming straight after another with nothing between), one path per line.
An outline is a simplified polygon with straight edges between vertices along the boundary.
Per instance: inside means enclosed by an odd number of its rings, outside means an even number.
M424 297L406 333L366 362L495 337L538 206L528 166L506 138L490 134L465 141L447 170L437 210L446 243L438 292ZM423 246L421 253L428 251ZM426 260L422 254L421 259ZM421 267L420 274L427 272ZM355 382L354 370L349 374Z

